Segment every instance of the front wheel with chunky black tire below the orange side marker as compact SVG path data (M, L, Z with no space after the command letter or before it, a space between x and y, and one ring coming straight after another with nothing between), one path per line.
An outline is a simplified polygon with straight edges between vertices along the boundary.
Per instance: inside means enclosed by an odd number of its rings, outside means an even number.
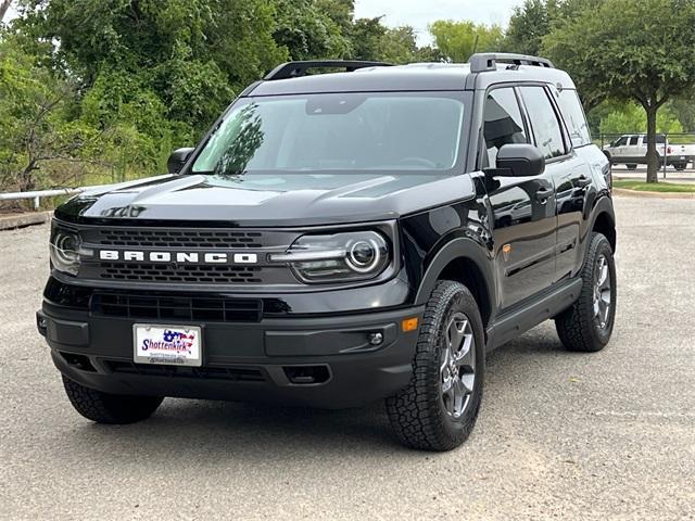
M467 319L466 326L460 321L462 316ZM460 369L455 369L455 376L448 372L450 369L443 369L448 367L446 360L452 360L451 357L445 358L447 353L451 354L450 325L455 328L460 326L464 333L470 331L462 335L458 353L463 353L465 345L472 339L472 345L469 344L468 350L473 357L470 363L472 368L462 365ZM470 329L467 329L468 326ZM463 358L462 356L460 359ZM484 358L483 326L476 300L458 282L438 282L420 325L410 383L387 399L389 419L399 441L408 447L424 450L451 450L464 443L476 423L482 399ZM464 381L464 376L470 378L469 370L473 374L472 383L468 383L470 387L466 384L463 387L457 385L460 383L458 380ZM452 399L447 399L450 394L442 387L444 372L448 374L448 381L456 382L452 387L471 390L466 394L465 401L459 403L460 411L457 417L447 411L446 404L455 407Z

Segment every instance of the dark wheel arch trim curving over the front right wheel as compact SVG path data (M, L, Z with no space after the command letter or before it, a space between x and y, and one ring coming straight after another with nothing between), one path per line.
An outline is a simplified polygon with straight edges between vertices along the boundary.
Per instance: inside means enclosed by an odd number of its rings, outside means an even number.
M496 309L495 279L492 260L480 244L459 238L438 251L417 291L418 305L427 303L440 280L454 280L468 288L478 303L483 326L489 326Z

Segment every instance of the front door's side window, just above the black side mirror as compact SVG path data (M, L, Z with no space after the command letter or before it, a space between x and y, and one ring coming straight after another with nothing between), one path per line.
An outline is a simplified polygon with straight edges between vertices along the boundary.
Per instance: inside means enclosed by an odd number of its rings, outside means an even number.
M503 144L528 143L521 110L514 89L491 90L485 100L483 119L488 166L496 165L497 152Z

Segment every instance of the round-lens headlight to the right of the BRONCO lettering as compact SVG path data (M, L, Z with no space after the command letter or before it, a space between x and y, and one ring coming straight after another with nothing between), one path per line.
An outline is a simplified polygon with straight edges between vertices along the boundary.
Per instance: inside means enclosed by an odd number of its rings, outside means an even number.
M389 265L389 243L376 231L303 236L270 260L289 264L304 282L365 280Z

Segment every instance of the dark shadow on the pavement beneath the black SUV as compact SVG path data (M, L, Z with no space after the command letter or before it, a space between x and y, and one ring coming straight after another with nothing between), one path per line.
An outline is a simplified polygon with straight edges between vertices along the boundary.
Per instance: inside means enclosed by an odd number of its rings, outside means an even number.
M484 402L513 399L510 381L543 380L552 371L547 359L567 356L557 338L546 331L528 333L488 357ZM552 366L552 364L551 364ZM509 395L509 396L507 396ZM484 420L485 403L479 420ZM75 422L80 420L75 418ZM469 441L469 444L473 440ZM327 457L391 457L395 452L421 458L427 453L399 445L391 432L383 403L345 410L279 407L267 404L168 398L147 421L131 425L98 425L84 422L71 439L56 440L56 448L70 443L97 445L114 460L135 456L148 461L195 460L214 463L224 459L254 462L286 457L305 460ZM74 447L73 447L74 449ZM430 457L432 455L429 455Z

